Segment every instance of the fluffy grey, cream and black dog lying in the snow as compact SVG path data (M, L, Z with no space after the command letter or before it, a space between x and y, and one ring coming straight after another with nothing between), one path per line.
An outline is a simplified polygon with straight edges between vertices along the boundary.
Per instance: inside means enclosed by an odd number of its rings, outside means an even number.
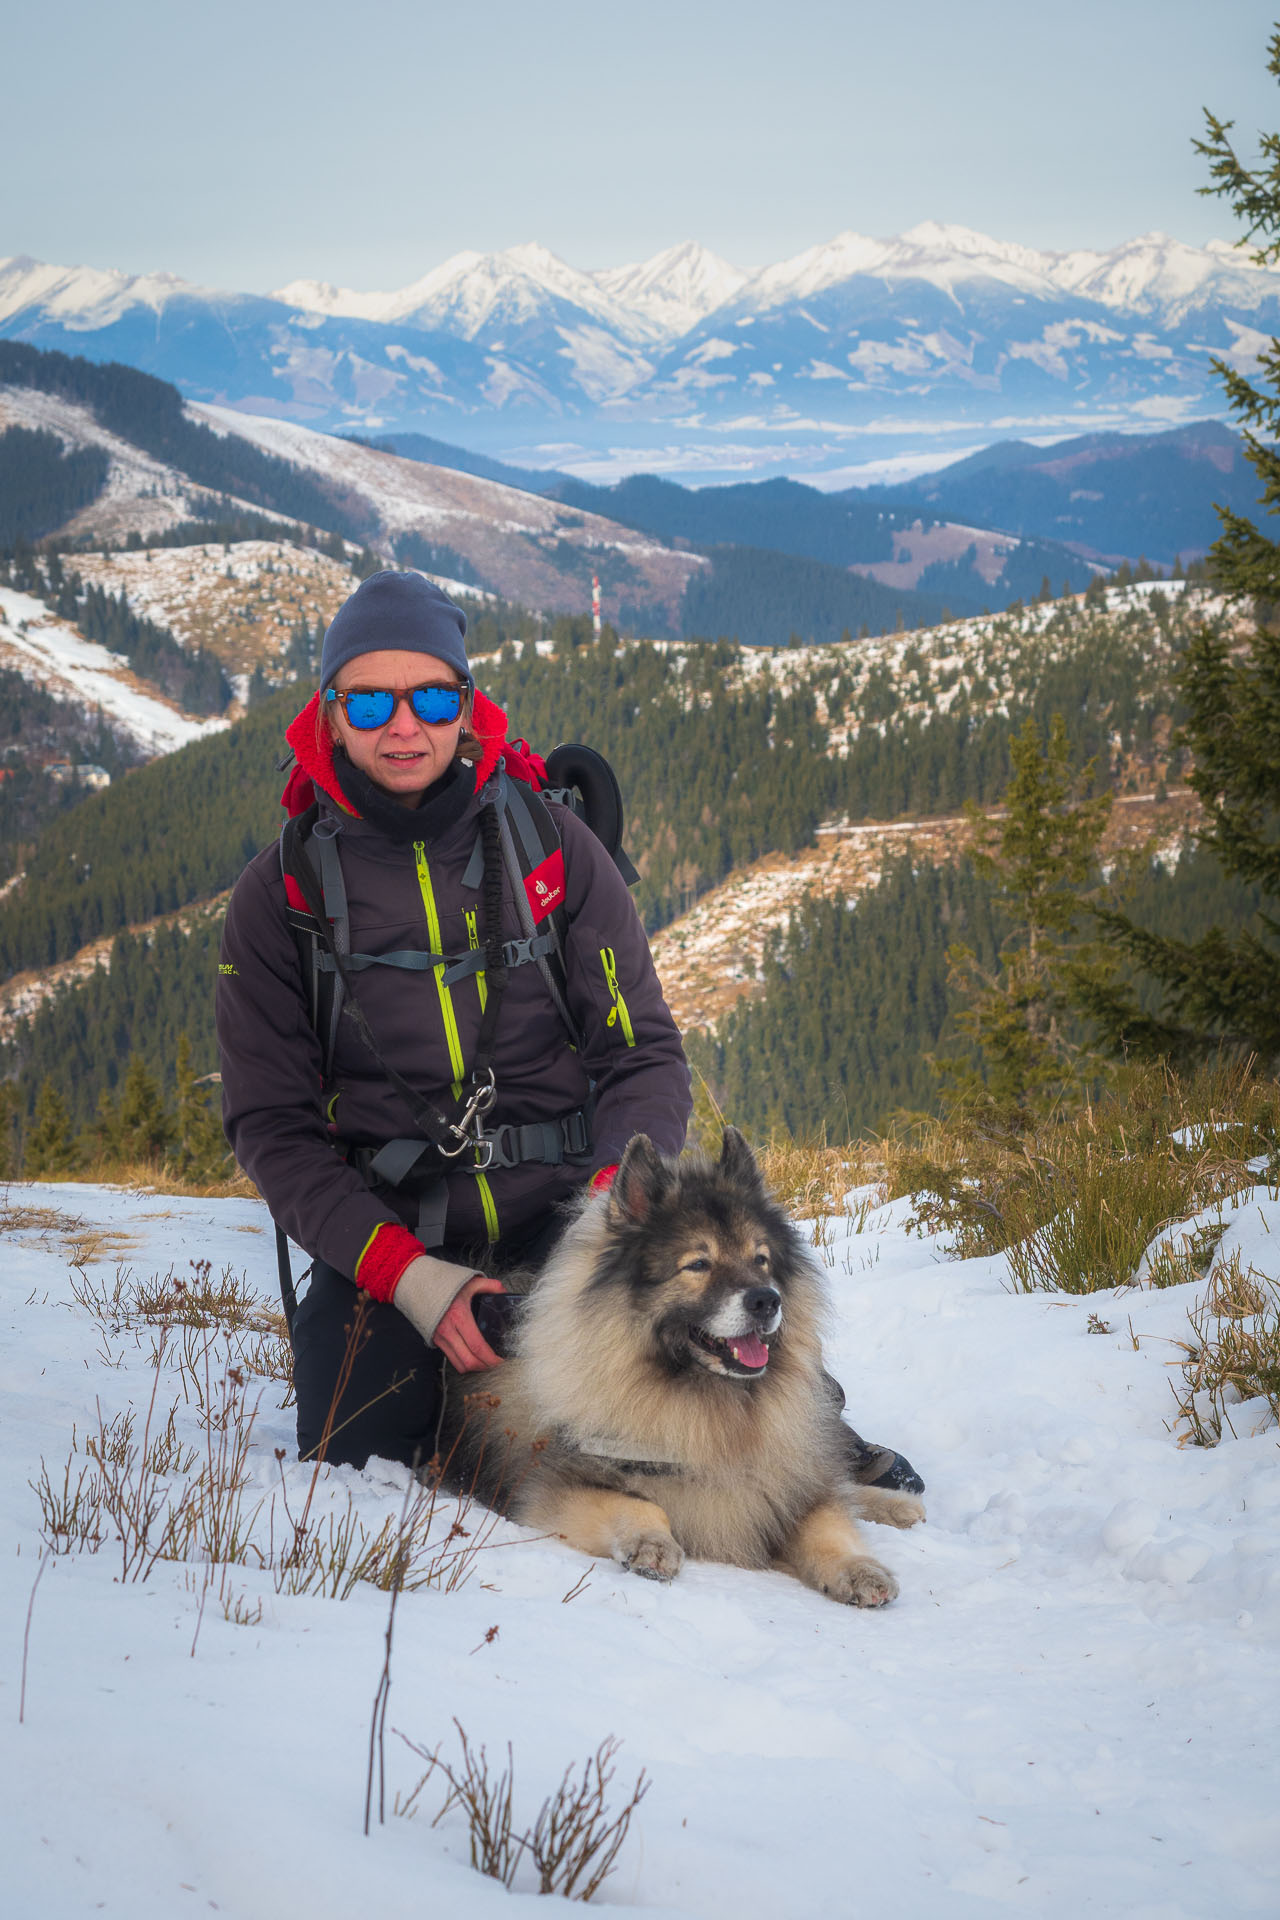
M443 1432L451 1478L649 1580L691 1553L883 1607L898 1582L854 1515L913 1526L925 1509L848 1480L821 1317L818 1261L741 1133L718 1162L639 1135L551 1256L510 1359Z

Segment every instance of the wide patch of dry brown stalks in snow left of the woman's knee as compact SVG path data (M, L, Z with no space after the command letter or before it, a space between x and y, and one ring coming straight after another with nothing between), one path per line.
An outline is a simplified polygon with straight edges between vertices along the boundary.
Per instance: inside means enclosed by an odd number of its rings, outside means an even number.
M468 1492L443 1494L449 1461L432 1461L407 1486L399 1517L367 1524L349 1490L324 1490L326 1469L307 1469L301 1488L274 1452L278 1486L255 1463L253 1427L261 1379L290 1386L292 1352L280 1315L259 1306L244 1279L209 1261L192 1261L190 1281L173 1269L138 1281L77 1275L75 1298L106 1334L152 1332L152 1386L146 1409L98 1411L98 1428L81 1446L75 1430L61 1469L40 1465L33 1492L40 1534L52 1553L115 1548L119 1578L150 1578L159 1561L194 1563L228 1619L257 1615L236 1601L230 1569L265 1574L278 1594L345 1599L357 1586L390 1590L462 1586L480 1553L495 1542L501 1515ZM165 1388L165 1392L161 1392ZM169 1398L177 1388L178 1398ZM288 1405L288 1392L282 1405ZM489 1421L493 1396L474 1396ZM194 1419L196 1444L184 1434ZM503 1436L495 1436L503 1444ZM510 1452L510 1436L507 1436ZM253 1488L261 1492L253 1492Z

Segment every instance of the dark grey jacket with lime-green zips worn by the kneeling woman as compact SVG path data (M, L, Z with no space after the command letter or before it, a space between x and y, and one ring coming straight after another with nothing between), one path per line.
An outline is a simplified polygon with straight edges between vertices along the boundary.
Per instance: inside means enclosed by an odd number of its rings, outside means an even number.
M476 945L476 927L484 941L482 891L462 885L478 833L476 799L457 826L416 847L397 845L324 791L319 799L322 814L342 824L351 952L462 954ZM568 808L547 804L564 843L568 1004L583 1048L570 1044L537 966L512 968L493 1058L497 1106L487 1125L555 1119L587 1104L595 1083L591 1152L578 1165L524 1164L493 1169L484 1181L451 1171L451 1242L518 1231L597 1167L616 1162L635 1133L670 1154L685 1140L689 1068L631 897L591 829ZM273 845L244 870L226 914L217 993L223 1117L236 1160L273 1217L307 1252L353 1275L378 1225L415 1227L416 1202L391 1188L370 1190L344 1152L413 1137L416 1129L351 1020L340 1023L324 1110L320 1043L286 904ZM503 876L503 937L518 939L522 931ZM386 1060L418 1094L455 1116L453 1087L466 1079L476 1052L478 979L449 989L434 972L368 968L357 991Z

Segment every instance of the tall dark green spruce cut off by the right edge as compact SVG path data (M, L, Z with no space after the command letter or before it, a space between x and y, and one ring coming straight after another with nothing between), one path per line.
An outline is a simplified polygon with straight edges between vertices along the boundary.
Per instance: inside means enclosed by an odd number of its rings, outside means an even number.
M1280 29L1272 33L1268 71L1280 81ZM1253 259L1280 259L1280 134L1261 136L1257 167L1232 146L1232 121L1205 113L1207 138L1196 150L1209 161L1211 184L1244 223ZM1222 532L1211 547L1213 584L1247 616L1247 632L1192 641L1180 674L1188 707L1182 741L1194 756L1190 783L1207 824L1199 843L1222 870L1261 887L1280 902L1280 541L1272 515L1280 507L1280 338L1247 376L1226 361L1213 367L1244 428L1245 459L1259 484L1263 524L1219 507ZM1105 931L1163 989L1163 1004L1144 1014L1130 991L1115 985L1082 995L1115 1050L1194 1056L1217 1046L1251 1052L1265 1064L1280 1058L1280 920L1259 910L1255 927L1226 935L1213 927L1197 941L1157 939L1121 914Z

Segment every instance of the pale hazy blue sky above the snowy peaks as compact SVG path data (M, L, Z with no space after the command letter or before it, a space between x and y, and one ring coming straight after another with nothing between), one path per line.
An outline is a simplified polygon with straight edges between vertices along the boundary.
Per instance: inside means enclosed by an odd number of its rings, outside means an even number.
M1276 0L25 0L0 255L265 292L541 240L756 267L921 219L1234 238L1201 108L1280 125Z

